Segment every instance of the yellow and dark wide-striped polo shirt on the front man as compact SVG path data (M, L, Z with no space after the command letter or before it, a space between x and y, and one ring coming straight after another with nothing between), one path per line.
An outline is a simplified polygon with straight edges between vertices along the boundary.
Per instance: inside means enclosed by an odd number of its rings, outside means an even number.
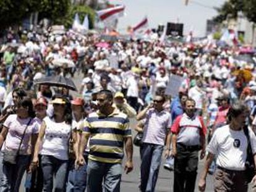
M124 138L132 136L127 115L118 109L108 116L100 111L89 114L83 133L90 135L88 159L106 163L122 162Z

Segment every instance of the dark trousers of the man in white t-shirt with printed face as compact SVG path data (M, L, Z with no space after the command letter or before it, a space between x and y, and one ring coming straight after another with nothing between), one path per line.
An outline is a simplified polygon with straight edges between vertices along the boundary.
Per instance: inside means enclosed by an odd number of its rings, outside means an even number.
M233 171L218 167L214 176L215 192L247 192L248 190L245 171Z

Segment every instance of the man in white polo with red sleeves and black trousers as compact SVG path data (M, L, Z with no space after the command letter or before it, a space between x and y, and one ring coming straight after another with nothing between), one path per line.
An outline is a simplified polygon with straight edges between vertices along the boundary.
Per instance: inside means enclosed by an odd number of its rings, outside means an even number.
M179 115L171 127L173 149L169 155L174 156L174 192L194 191L198 151L202 150L200 159L205 156L207 129L202 117L196 115L195 111L195 101L187 99L185 113ZM166 146L169 146L171 134L166 142Z

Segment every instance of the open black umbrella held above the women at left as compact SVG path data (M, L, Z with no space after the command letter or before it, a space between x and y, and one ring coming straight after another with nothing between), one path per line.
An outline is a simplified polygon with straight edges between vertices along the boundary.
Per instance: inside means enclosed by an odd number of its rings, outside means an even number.
M43 77L38 80L35 80L35 84L58 86L67 88L69 90L77 91L75 83L70 78L63 77L62 75Z

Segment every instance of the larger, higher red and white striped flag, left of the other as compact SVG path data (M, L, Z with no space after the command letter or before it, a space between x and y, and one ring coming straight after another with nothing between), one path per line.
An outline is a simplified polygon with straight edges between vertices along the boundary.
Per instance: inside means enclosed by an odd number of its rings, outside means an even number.
M125 6L116 6L108 9L99 10L96 13L99 19L105 22L106 20L114 20L124 16L124 9Z

